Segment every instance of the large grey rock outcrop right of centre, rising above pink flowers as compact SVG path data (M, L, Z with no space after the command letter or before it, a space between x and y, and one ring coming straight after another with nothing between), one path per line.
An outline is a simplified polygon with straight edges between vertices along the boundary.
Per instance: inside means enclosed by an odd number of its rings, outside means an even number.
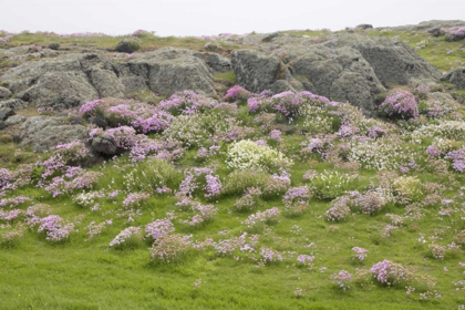
M278 45L260 45L268 52L232 52L232 69L242 86L252 92L304 89L372 115L376 95L390 85L427 84L441 78L436 68L396 40L344 33L314 43L285 37L275 37Z

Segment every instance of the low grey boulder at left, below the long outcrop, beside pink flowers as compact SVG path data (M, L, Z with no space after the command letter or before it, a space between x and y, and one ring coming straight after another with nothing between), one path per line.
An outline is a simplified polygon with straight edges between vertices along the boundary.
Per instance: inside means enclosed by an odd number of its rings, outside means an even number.
M85 142L89 137L85 126L70 125L62 117L31 116L20 131L20 145L34 152L44 152L75 140Z

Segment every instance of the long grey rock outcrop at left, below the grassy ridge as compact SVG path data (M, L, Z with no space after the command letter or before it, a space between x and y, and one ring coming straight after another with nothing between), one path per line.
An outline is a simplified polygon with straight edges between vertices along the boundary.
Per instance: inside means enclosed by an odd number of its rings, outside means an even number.
M69 108L143 91L170 95L196 90L215 95L211 72L228 70L229 60L219 54L166 48L120 62L102 54L64 54L25 62L0 78L30 105ZM0 96L7 99L11 92L2 89Z

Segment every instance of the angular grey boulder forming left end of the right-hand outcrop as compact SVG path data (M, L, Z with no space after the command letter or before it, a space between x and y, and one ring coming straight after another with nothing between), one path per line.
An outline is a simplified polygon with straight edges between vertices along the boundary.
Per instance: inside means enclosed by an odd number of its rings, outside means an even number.
M296 91L292 84L298 89L302 87L276 55L255 50L238 50L231 53L231 64L239 84L251 92Z

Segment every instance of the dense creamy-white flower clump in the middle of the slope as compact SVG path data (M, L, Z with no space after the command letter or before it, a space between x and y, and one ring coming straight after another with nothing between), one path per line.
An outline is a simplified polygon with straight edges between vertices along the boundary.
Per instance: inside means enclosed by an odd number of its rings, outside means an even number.
M226 164L234 169L276 172L292 165L292 161L288 159L285 154L268 146L258 145L250 140L234 143L227 155Z

